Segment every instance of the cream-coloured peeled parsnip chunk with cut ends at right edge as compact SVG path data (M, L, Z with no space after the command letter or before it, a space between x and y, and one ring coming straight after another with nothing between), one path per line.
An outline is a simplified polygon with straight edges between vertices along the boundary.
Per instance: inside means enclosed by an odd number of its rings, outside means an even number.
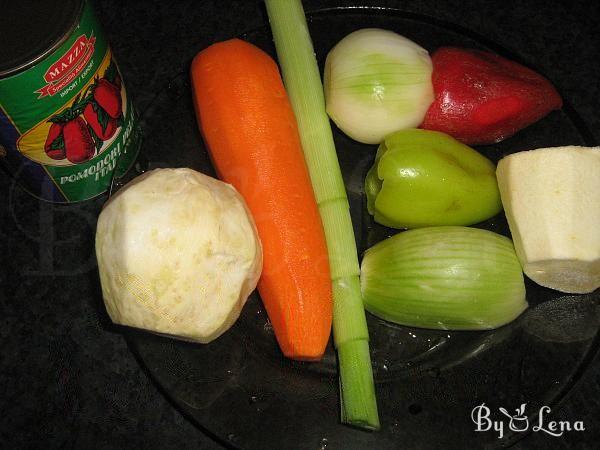
M569 293L600 286L600 147L505 157L496 171L517 256L536 283Z

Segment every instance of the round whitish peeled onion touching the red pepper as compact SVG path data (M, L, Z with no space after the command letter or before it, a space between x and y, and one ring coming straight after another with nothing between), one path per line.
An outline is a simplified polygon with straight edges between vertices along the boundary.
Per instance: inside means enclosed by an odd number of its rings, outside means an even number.
M378 144L421 124L434 99L432 70L427 50L397 33L350 33L325 61L327 114L352 139Z

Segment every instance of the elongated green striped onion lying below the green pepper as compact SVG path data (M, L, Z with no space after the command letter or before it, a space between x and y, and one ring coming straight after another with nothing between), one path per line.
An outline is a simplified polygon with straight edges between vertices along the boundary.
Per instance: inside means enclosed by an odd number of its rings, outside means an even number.
M478 228L396 234L367 250L360 281L365 308L401 325L491 329L527 308L511 240Z

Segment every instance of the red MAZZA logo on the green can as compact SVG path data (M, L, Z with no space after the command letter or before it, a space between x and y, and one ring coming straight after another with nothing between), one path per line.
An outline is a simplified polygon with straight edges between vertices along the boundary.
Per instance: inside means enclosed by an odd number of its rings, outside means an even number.
M82 34L71 48L52 64L44 74L46 85L35 91L38 98L53 96L69 85L83 70L94 54L96 37Z

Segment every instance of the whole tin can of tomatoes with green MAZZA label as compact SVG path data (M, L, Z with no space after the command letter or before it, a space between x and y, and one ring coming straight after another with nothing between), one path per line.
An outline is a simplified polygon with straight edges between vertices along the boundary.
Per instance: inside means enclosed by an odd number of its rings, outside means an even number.
M2 8L0 162L45 200L106 192L115 167L135 160L141 133L90 4L20 0Z

